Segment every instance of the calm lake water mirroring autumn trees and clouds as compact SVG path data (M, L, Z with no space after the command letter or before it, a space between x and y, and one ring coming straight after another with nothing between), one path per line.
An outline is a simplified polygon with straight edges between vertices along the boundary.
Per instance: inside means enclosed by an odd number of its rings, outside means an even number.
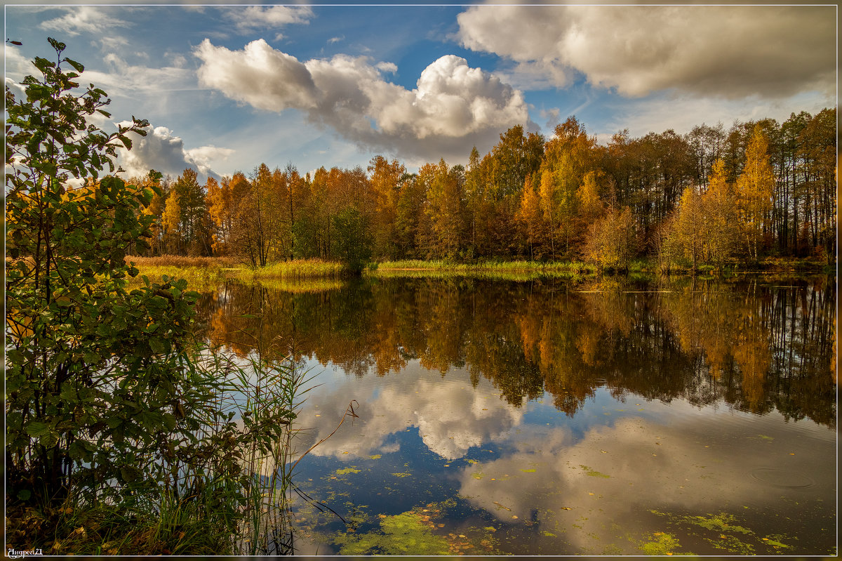
M287 288L200 316L317 375L301 451L354 401L296 553L835 552L834 278Z

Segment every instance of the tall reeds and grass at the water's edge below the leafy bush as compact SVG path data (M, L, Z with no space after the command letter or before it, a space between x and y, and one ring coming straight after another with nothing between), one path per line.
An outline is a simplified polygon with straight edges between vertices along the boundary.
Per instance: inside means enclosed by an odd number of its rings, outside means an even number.
M161 450L136 466L147 484L119 498L104 484L72 489L57 507L14 506L8 547L48 555L292 553L291 439L312 377L290 357L271 356L256 350L242 361L199 346L184 376L209 393L175 429L189 438L175 446L175 433L163 434Z

